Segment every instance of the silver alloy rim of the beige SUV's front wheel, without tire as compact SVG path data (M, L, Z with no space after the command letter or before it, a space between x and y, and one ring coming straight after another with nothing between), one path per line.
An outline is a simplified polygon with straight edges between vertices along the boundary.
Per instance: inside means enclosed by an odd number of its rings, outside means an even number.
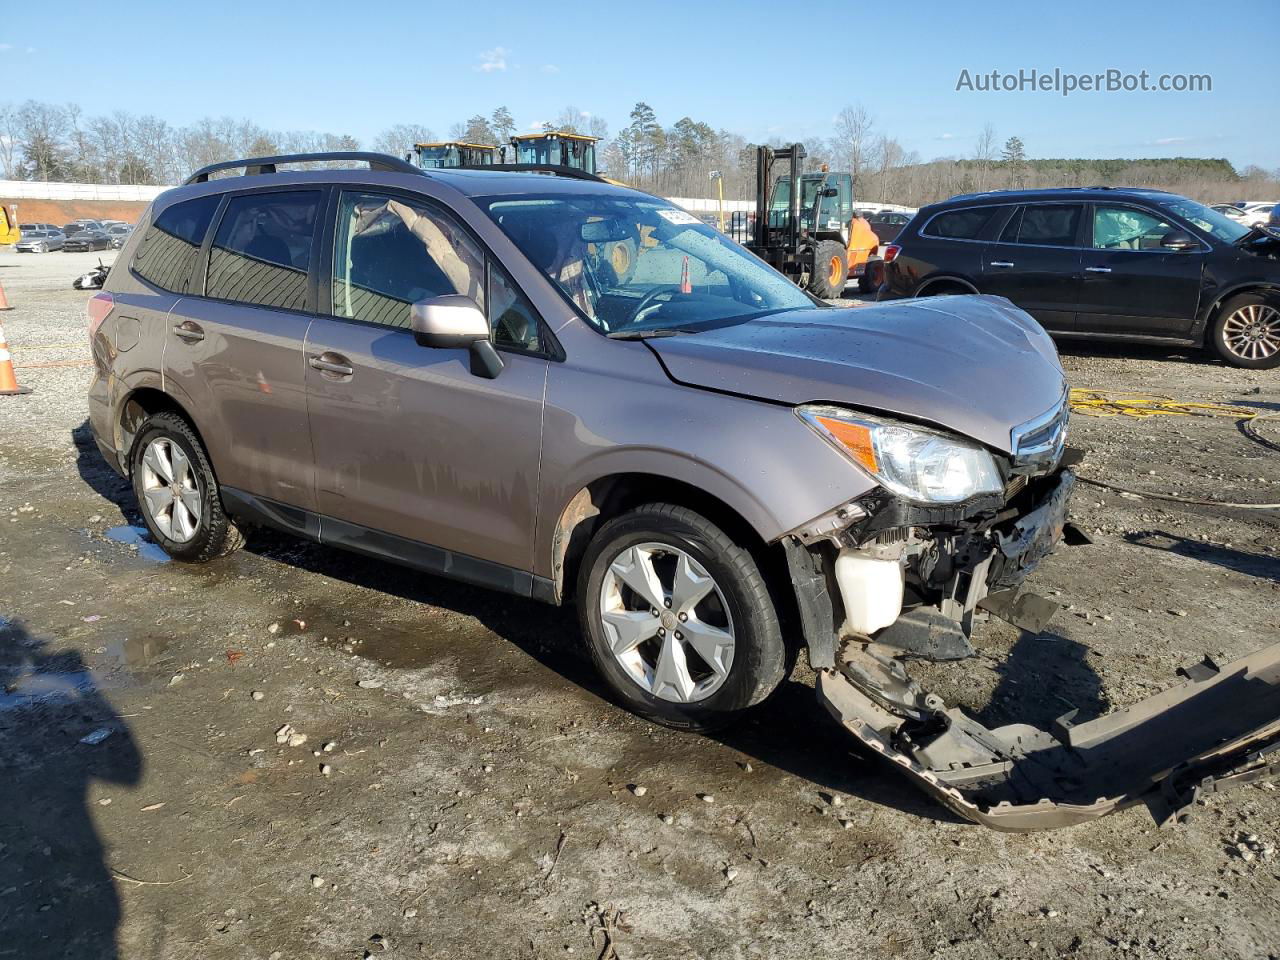
M714 577L669 544L622 550L600 585L600 621L614 659L669 703L714 694L733 666L733 621Z

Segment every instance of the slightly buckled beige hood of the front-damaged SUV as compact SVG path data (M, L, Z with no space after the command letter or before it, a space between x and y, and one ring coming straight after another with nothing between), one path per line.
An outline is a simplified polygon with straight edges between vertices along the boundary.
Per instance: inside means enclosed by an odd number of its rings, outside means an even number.
M814 307L646 343L677 383L896 413L1006 453L1066 388L1048 334L1002 297Z

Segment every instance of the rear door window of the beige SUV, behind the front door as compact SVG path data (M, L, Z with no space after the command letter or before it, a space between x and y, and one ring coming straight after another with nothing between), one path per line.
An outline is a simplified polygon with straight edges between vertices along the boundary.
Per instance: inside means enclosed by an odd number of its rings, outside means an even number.
M209 251L205 294L306 310L320 191L232 197Z

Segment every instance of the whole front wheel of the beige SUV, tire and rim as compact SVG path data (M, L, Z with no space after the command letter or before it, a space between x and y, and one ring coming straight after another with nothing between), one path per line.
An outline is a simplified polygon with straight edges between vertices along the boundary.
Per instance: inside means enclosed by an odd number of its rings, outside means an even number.
M600 527L582 558L577 605L616 699L669 727L723 726L786 672L751 553L685 507L646 504Z

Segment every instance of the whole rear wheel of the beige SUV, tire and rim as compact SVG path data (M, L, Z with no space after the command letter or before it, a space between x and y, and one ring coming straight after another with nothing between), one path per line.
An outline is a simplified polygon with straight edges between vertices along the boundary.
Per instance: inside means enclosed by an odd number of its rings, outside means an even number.
M204 444L180 416L148 417L138 430L131 465L142 518L170 557L205 563L244 543L223 511Z

